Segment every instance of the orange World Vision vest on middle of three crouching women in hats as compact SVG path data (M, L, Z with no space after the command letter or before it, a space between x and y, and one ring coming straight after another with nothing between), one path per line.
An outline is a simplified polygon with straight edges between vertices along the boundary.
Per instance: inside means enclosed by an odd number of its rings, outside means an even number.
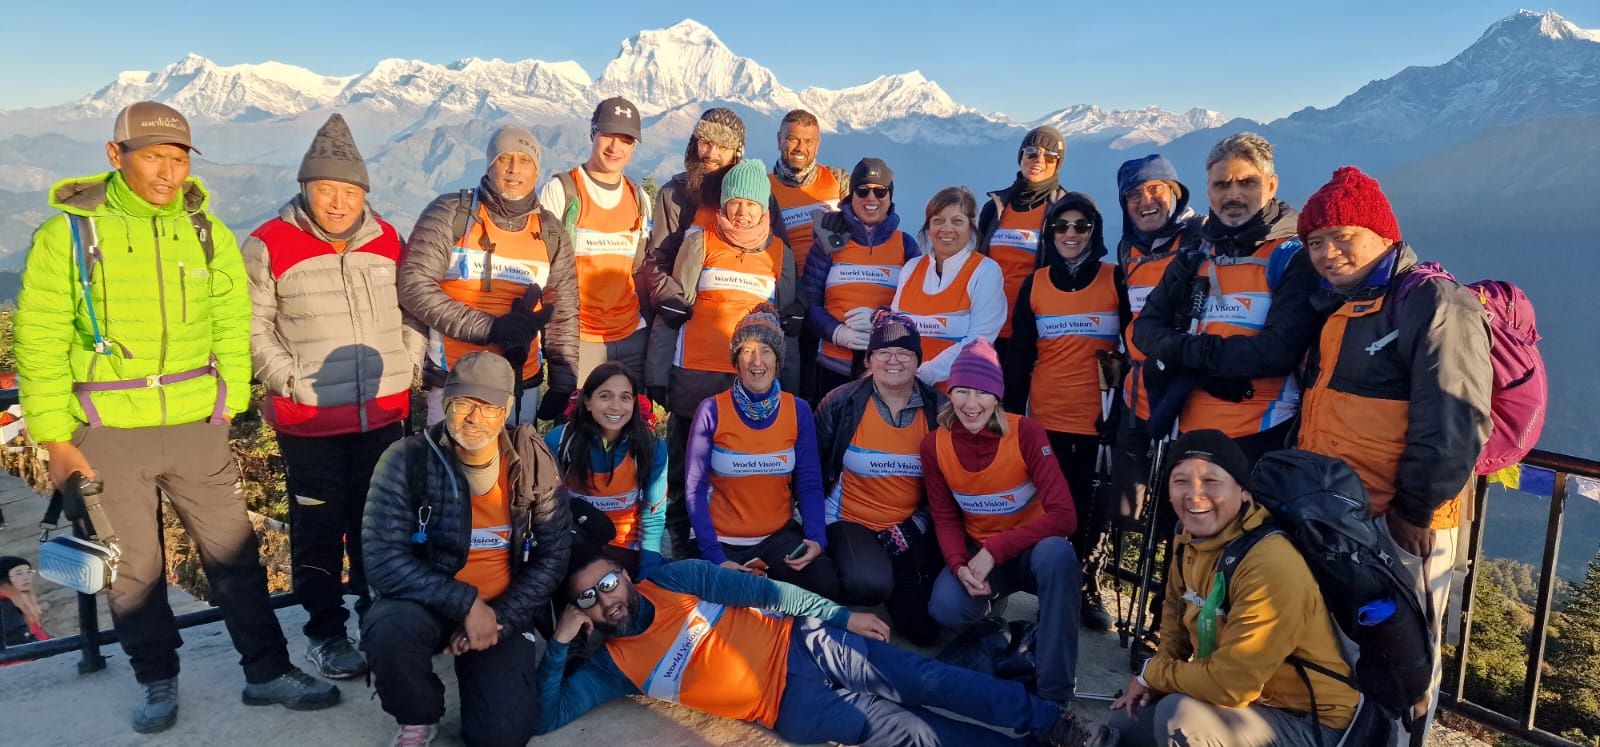
M928 419L922 409L910 425L894 427L869 398L827 496L829 523L843 520L883 531L910 518L923 497L918 449L925 435Z

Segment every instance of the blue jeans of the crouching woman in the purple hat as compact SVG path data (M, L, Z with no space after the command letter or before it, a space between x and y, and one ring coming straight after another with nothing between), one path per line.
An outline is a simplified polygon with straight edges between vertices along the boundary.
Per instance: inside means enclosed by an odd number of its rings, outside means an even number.
M1030 550L989 573L994 598L976 598L946 568L933 581L928 614L949 629L965 629L990 614L994 600L1013 592L1038 595L1038 633L1034 662L1038 696L1054 702L1072 699L1078 670L1078 608L1083 605L1083 569L1066 537L1040 539Z

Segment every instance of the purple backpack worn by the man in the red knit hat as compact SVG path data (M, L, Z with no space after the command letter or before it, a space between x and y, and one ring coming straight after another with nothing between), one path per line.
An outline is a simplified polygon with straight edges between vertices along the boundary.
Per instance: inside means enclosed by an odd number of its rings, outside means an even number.
M1411 290L1430 278L1456 282L1438 262L1422 262L1400 277L1395 306L1405 304ZM1539 328L1528 294L1504 280L1478 280L1466 288L1490 315L1490 363L1494 366L1490 411L1494 430L1477 464L1477 473L1488 475L1520 462L1533 451L1544 430L1550 389L1544 381Z

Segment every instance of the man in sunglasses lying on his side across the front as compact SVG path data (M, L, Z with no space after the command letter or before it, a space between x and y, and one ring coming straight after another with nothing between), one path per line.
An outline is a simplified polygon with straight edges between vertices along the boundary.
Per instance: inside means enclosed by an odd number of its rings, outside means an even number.
M704 560L659 566L635 585L616 561L574 545L565 592L539 662L539 733L648 694L800 744L1019 744L982 725L1026 733L1030 744L1114 742L1021 683L894 648L872 614ZM568 645L586 630L608 633L606 643L563 680Z

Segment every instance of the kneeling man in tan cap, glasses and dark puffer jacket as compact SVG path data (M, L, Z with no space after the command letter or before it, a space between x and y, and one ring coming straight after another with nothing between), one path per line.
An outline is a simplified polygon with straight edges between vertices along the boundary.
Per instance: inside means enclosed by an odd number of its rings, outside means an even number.
M506 432L515 385L506 358L462 355L445 379L443 422L390 446L373 473L362 651L400 725L395 745L438 733L438 653L454 656L466 744L523 745L538 725L530 630L566 569L571 515L534 427Z

